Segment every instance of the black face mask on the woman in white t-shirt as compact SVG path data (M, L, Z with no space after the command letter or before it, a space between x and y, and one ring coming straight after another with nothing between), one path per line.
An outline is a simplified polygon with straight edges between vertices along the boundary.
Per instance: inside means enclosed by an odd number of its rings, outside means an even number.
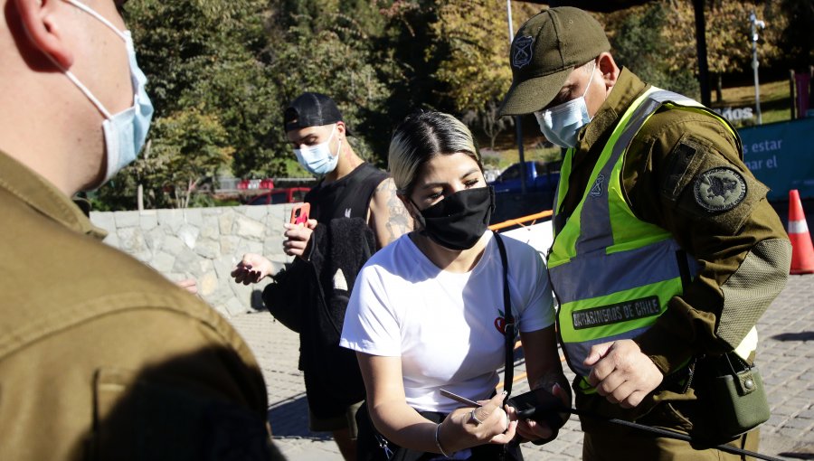
M416 207L418 208L418 207ZM451 194L416 217L425 235L448 249L470 249L487 230L495 211L492 186Z

